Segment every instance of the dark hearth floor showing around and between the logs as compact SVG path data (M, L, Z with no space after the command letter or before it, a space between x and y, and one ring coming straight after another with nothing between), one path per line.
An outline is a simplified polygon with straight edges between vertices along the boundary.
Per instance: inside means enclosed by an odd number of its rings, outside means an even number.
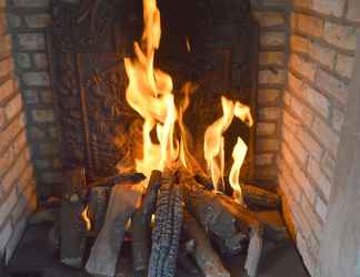
M47 234L49 226L32 226L28 228L9 264L10 273L38 271L41 277L88 277L90 275L74 270L59 263L48 247ZM124 249L127 252L127 249ZM127 256L127 255L123 255ZM243 271L243 256L227 258L224 264L231 271L231 277L247 277ZM132 277L131 259L122 258L119 263L117 277ZM120 269L121 268L121 269ZM11 276L11 275L10 275ZM32 277L24 275L23 277ZM261 257L258 277L308 277L300 256L290 242L282 245L266 245ZM181 269L177 277L201 277L190 275Z

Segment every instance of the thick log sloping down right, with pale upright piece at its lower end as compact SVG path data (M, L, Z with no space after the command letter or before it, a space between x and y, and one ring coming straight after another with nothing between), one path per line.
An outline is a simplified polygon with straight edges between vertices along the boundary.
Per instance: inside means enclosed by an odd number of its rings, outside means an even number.
M197 218L207 233L223 240L233 238L239 232L250 238L247 271L250 277L257 273L262 250L264 224L250 211L232 198L206 191L183 170L180 172L187 209Z

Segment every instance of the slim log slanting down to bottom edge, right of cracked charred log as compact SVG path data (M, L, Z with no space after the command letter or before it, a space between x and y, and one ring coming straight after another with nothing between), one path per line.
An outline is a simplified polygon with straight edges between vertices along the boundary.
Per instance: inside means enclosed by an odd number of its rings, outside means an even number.
M203 276L230 277L230 273L222 266L220 258L212 249L207 233L189 213L184 213L183 229L196 240L196 249L192 255Z

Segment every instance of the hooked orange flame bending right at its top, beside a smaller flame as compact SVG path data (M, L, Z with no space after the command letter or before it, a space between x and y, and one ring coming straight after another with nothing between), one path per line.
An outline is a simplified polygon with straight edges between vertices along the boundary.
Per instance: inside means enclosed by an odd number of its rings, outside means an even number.
M249 106L243 105L240 102L233 103L224 96L221 98L221 104L223 115L206 130L203 143L204 158L207 161L212 183L217 189L220 189L220 179L223 184L223 133L228 130L234 116L247 123L249 126L253 124Z

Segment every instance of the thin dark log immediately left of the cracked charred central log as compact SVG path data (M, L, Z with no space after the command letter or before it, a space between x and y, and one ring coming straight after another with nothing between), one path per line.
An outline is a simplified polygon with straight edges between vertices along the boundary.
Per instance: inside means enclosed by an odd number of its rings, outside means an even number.
M141 205L132 215L132 264L136 276L148 276L151 248L151 215L156 211L157 195L161 185L161 172L151 173Z

